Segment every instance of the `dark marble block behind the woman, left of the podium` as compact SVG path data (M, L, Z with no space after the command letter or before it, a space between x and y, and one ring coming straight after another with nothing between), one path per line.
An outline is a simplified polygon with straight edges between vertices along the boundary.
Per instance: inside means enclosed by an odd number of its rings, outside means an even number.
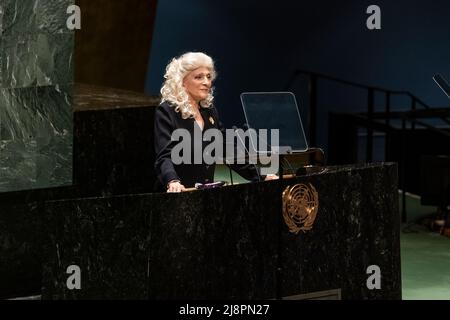
M44 202L153 191L153 115L159 98L76 84L73 102L73 172L67 179L73 183L0 192L0 299L41 291Z

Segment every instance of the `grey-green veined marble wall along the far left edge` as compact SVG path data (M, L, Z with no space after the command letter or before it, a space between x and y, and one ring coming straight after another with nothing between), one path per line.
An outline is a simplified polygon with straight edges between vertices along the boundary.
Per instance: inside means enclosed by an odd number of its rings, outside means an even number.
M72 183L75 0L0 0L0 192Z

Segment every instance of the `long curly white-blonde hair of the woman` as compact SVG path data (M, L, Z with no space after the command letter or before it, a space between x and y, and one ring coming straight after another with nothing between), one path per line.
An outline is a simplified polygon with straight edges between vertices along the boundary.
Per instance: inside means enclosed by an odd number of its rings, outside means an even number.
M161 103L167 101L174 105L176 112L181 112L183 119L193 118L195 111L189 102L189 96L183 87L186 75L200 67L206 67L211 72L211 80L216 78L213 59L202 52L187 52L178 58L173 58L166 67L164 84L161 88ZM205 100L200 101L202 108L209 108L214 99L213 88Z

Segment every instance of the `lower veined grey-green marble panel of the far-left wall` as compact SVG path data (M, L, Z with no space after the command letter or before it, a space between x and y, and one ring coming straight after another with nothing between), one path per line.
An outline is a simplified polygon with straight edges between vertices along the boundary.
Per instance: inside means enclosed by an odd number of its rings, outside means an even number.
M72 183L71 86L0 89L0 192Z

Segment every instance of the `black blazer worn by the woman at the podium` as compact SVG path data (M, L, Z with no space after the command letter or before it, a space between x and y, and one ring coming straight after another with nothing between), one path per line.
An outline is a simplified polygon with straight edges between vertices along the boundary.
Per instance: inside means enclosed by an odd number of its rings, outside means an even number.
M217 128L222 131L225 142L225 128L219 121L217 110L214 106L209 108L200 108L200 114L204 121L203 130ZM181 113L175 112L175 108L164 102L157 107L155 112L155 171L158 177L158 185L155 186L158 191L165 190L167 184L172 180L180 180L185 187L193 187L195 183L207 183L214 180L215 165L202 164L180 164L175 165L171 160L172 148L178 141L171 141L172 132L175 129L183 128L189 131L191 137L194 137L194 128L200 132L200 128L193 118L183 119ZM194 139L191 141L193 149ZM202 154L204 148L209 144L208 141L202 141ZM224 152L226 148L224 147ZM191 151L193 160L193 151ZM191 162L193 163L193 161ZM247 180L258 181L261 179L257 167L253 164L230 165Z

